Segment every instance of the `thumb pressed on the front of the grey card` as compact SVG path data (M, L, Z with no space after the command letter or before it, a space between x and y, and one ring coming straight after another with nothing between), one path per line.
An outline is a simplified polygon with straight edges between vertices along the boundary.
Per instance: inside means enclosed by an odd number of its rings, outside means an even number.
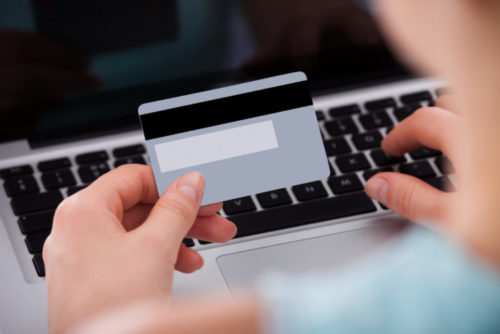
M175 180L160 196L141 226L149 240L175 252L194 224L200 209L205 180L198 172L190 172Z

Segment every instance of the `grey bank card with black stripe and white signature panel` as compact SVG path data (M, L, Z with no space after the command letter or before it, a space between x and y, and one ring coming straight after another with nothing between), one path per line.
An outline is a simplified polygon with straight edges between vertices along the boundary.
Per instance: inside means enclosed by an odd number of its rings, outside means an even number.
M330 174L302 72L146 103L139 117L160 194L194 170L203 205Z

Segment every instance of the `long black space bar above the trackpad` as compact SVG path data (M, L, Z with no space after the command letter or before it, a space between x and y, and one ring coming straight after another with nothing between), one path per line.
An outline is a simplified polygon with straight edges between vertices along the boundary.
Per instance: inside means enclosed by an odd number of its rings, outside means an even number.
M231 217L236 238L375 211L364 193L304 202Z

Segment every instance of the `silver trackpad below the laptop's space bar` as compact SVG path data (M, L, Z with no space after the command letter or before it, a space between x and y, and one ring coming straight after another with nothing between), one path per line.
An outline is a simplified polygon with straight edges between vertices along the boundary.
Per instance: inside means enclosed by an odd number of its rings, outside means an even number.
M380 248L403 226L388 224L223 255L217 264L234 292L254 287L267 271L294 274L340 269Z

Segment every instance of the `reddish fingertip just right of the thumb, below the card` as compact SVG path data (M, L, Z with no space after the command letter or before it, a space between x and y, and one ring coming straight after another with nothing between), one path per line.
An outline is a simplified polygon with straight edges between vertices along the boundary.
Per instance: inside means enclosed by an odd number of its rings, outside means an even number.
M236 235L236 225L219 215L198 217L189 230L189 238L223 243Z

